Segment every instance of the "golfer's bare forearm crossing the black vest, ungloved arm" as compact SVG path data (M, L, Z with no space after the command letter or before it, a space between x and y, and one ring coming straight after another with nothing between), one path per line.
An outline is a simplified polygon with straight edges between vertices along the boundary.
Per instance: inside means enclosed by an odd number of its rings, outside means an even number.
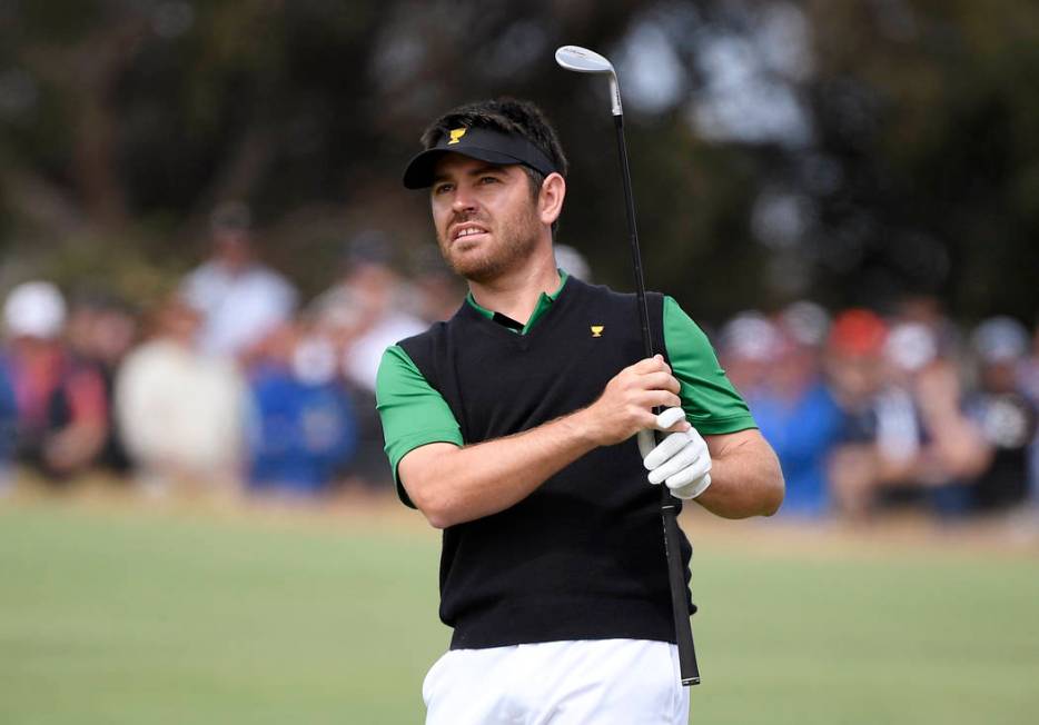
M445 528L514 506L595 448L586 410L521 434L458 448L433 444L402 460L400 480L433 526Z

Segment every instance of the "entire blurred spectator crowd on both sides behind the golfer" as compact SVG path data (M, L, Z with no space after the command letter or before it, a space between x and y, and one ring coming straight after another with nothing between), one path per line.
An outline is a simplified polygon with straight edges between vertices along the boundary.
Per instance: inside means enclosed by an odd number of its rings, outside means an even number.
M3 304L0 487L103 470L142 491L279 498L387 490L375 411L383 350L464 296L435 248L403 274L377 231L353 238L305 304L259 258L248 209L218 208L208 257L154 309L36 280ZM590 277L573 249L560 266ZM799 301L709 329L775 448L784 516L942 519L1039 493L1039 330L964 329L932 298L884 315Z

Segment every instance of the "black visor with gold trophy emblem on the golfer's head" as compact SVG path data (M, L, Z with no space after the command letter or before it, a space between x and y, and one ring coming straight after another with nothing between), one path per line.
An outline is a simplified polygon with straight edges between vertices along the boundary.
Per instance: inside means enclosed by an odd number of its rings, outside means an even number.
M545 176L557 170L541 149L520 136L486 128L462 127L452 129L436 146L410 160L404 170L404 186L408 189L433 186L433 170L445 153L461 153L498 166L522 163Z

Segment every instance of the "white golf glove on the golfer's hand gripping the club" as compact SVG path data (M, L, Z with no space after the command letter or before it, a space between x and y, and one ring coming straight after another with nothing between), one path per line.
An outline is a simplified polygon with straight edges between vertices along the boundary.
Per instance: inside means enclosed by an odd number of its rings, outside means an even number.
M682 408L667 408L656 416L656 428L666 430L683 418ZM675 498L696 498L711 485L711 454L695 428L672 433L660 445L652 430L640 430L639 450L650 483L663 481Z

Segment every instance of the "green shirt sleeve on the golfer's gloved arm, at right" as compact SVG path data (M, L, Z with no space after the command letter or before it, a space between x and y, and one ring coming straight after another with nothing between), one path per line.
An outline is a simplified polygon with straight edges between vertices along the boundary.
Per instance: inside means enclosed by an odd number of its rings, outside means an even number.
M682 408L701 435L758 427L746 401L725 377L707 336L671 297L664 298L664 345L681 384Z

